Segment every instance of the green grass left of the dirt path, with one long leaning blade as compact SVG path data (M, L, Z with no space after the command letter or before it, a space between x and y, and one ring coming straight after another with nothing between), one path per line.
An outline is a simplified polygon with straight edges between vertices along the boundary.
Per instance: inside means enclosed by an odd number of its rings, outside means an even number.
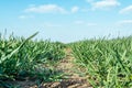
M6 80L23 80L26 77L41 81L61 79L62 74L53 68L52 63L65 57L63 44L32 41L36 34L28 38L11 35L6 40L0 36L0 86Z

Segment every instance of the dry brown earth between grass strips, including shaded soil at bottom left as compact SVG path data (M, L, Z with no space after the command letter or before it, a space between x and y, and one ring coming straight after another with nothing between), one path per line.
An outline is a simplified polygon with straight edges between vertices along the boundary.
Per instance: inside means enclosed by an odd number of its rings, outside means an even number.
M65 53L66 58L62 59L56 68L65 73L67 78L62 79L62 81L43 82L40 87L30 80L16 81L16 84L20 85L21 88L92 88L88 84L87 77L78 74L78 72L81 73L81 70L74 64L72 50L66 48Z

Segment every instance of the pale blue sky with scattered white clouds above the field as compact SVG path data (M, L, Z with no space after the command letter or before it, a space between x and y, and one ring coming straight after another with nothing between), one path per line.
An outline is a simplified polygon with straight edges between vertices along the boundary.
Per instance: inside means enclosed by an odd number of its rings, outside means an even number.
M64 43L132 34L132 0L1 0L0 33Z

